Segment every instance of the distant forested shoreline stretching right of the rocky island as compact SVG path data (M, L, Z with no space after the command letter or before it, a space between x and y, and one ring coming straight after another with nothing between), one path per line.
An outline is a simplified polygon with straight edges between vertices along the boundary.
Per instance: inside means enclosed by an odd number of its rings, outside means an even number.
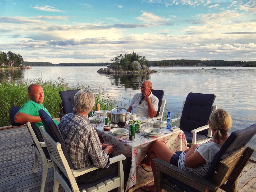
M240 67L256 67L256 61L224 61L224 60L163 60L163 61L149 61L150 65L157 67L166 66L210 66L210 67L224 67L224 66L240 66Z

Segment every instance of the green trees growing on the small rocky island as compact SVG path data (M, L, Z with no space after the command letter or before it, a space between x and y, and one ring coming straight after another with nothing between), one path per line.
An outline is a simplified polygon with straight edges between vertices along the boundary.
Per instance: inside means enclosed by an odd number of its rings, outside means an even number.
M138 61L141 65L145 65L148 68L150 68L149 61L146 59L146 57L139 56L134 51L132 52L132 54L127 54L125 52L124 56L120 54L119 56L110 59L110 61L113 62L110 64L112 69L123 69L133 71L135 70L134 67L132 66L133 61Z

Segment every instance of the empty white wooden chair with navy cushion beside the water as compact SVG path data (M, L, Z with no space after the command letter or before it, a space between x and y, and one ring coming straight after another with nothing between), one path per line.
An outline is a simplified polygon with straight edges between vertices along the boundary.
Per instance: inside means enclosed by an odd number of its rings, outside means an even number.
M172 119L178 121L179 127L185 134L188 143L202 144L210 141L212 131L208 120L210 114L217 109L213 106L214 94L189 93L181 108L181 116Z

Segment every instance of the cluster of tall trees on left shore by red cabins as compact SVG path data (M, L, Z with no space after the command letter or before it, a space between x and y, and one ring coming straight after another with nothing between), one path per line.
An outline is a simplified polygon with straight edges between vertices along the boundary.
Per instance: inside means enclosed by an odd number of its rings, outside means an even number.
M12 66L18 67L24 61L20 54L15 54L11 51L8 51L6 54L5 52L0 51L0 63L4 63L4 65L7 66L10 62L12 62Z

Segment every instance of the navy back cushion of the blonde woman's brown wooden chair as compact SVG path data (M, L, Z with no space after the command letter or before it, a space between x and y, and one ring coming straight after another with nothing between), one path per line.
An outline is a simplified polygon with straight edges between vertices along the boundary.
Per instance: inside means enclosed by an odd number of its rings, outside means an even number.
M232 132L214 158L213 163L208 170L207 175L205 176L205 179L210 179L221 159L224 159L225 157L244 147L255 134L256 124L253 124L245 129Z

